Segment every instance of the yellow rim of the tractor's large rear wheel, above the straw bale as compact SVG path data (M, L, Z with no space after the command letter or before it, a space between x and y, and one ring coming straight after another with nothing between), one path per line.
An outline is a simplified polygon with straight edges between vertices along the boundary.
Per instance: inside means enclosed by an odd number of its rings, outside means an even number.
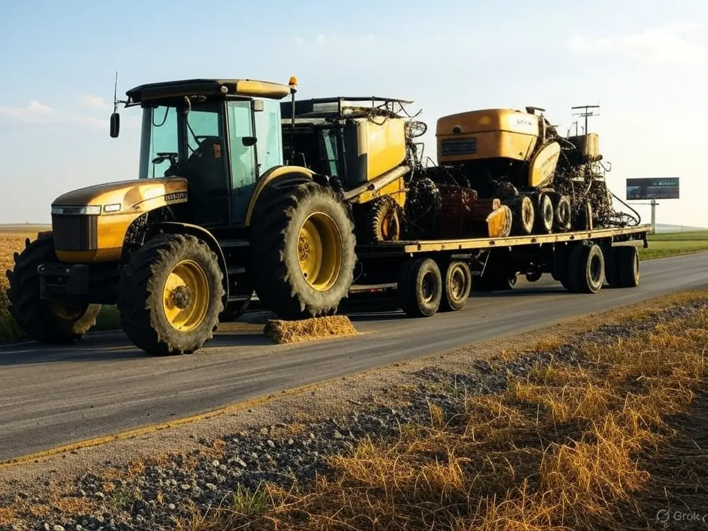
M315 212L305 219L297 256L302 276L315 290L326 291L334 285L342 265L342 237L329 215Z

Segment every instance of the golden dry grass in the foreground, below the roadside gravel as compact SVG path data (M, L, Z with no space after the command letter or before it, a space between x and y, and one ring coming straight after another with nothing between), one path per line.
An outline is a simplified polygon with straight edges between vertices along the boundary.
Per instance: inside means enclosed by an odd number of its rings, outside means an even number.
M331 457L336 474L314 486L263 486L249 494L258 510L235 503L181 526L614 530L645 528L669 503L708 512L707 325L704 310L588 344L583 367L535 367L502 394L466 399L452 418L430 406L428 423L398 440Z

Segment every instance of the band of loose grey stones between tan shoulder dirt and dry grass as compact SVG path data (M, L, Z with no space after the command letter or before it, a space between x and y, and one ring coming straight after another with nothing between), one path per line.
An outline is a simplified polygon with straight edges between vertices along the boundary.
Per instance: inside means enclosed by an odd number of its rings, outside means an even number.
M580 365L583 343L629 338L706 307L708 301L698 299L641 319L600 326L552 352L522 353L510 360L477 360L464 373L427 367L416 372L417 388L409 391L406 405L400 408L369 409L362 404L350 409L346 416L310 423L302 430L287 430L287 425L278 424L232 433L223 437L222 442L202 440L206 452L171 455L159 464L148 464L139 474L125 474L126 479L86 474L76 480L74 497L77 502L92 503L96 510L71 516L55 507L51 516L30 517L25 525L0 523L0 530L173 529L173 518L187 517L191 503L201 510L230 503L237 489L253 491L261 481L286 488L295 481L307 484L316 474L331 472L325 461L327 456L351 452L362 438L396 438L402 425L428 423L430 404L439 406L446 416L459 413L464 396L501 392L510 377L525 377L537 364L556 360ZM396 389L389 389L388 396L401 399ZM46 499L17 493L15 498L0 498L0 515L2 508L11 506L18 498L51 505Z

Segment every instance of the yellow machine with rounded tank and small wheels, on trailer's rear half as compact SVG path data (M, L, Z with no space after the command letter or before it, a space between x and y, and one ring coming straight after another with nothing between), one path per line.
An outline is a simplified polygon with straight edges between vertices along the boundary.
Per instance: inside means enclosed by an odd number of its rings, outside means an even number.
M512 212L511 234L549 234L612 222L596 133L562 137L544 109L491 108L442 116L435 129L439 166L414 183L421 204L440 205L438 225L454 224L443 198L474 190L479 205L500 200ZM452 187L453 190L447 188ZM423 193L423 195L420 195ZM425 200L421 199L425 197Z

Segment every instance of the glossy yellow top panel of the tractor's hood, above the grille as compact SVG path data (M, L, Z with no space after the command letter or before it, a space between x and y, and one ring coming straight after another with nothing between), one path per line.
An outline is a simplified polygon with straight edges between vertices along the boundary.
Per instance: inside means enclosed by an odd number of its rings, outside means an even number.
M53 214L125 214L145 212L187 200L187 180L181 177L132 179L79 188L52 202Z

